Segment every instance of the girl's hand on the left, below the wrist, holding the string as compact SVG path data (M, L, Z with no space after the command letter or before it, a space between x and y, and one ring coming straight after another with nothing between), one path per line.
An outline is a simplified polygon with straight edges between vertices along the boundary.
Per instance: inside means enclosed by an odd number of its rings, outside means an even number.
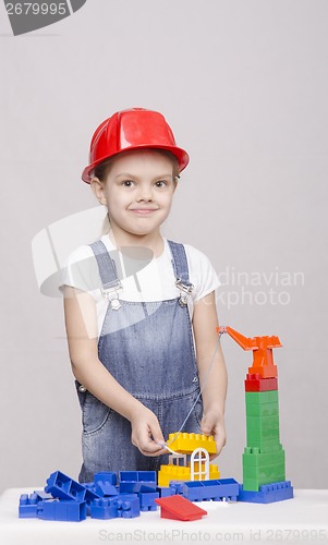
M153 411L142 405L134 411L131 420L131 443L145 456L167 455L165 438L162 436L159 422ZM160 445L158 445L160 444Z

